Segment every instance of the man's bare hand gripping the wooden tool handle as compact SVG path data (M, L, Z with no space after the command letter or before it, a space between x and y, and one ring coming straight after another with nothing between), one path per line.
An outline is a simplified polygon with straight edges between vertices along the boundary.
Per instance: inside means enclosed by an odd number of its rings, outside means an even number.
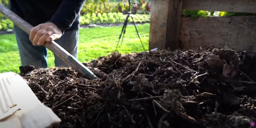
M62 31L52 22L35 26L30 31L29 40L34 46L44 45L45 42L52 42L62 36Z

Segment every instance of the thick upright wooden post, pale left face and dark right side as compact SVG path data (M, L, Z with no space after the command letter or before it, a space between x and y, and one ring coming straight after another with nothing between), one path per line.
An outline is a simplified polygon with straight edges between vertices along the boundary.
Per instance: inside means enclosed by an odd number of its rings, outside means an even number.
M149 50L178 49L183 0L152 0Z

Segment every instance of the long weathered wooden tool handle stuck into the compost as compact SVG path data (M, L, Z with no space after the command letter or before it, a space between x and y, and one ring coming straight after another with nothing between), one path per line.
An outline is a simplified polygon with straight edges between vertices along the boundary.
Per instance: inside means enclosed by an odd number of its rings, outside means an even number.
M27 34L30 34L31 29L33 28L28 22L20 18L17 14L12 12L10 9L3 6L0 3L0 13L3 14L6 18L10 19L15 25L17 25L20 29L25 31ZM52 41L51 43L46 42L44 47L51 50L52 53L55 53L61 60L63 60L66 64L72 67L74 70L79 72L81 75L86 76L88 79L93 80L98 77L93 74L87 67L84 66L80 61L78 61L74 56L68 53L64 48L58 45L56 42Z

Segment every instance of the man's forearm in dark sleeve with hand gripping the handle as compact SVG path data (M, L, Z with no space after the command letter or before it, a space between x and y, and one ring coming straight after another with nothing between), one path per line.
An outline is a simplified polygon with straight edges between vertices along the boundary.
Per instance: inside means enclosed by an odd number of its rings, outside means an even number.
M30 31L29 39L33 45L41 46L44 42L59 39L65 30L71 27L86 0L63 0L52 18L35 26Z

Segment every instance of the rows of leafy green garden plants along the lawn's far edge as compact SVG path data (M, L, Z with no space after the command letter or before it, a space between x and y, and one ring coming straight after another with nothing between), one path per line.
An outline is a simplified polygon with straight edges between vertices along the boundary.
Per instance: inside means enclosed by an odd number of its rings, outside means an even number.
M151 1L151 0L149 0ZM145 6L147 0L135 0L137 6ZM9 0L0 0L8 6ZM144 7L143 6L143 7ZM81 10L81 24L91 23L119 23L124 22L126 15L122 12L128 10L128 0L87 0ZM132 5L131 5L132 10ZM135 16L136 17L136 16ZM129 19L131 21L131 19ZM149 19L136 19L136 22L148 22ZM12 29L13 23L0 14L0 30Z

